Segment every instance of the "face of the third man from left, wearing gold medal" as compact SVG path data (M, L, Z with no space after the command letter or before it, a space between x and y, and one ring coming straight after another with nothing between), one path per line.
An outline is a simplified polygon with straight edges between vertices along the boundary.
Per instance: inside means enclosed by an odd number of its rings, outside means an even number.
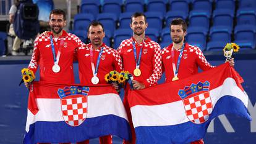
M130 28L134 31L134 34L140 36L141 34L145 35L145 30L148 27L148 23L145 22L145 17L132 17L132 23L130 24Z

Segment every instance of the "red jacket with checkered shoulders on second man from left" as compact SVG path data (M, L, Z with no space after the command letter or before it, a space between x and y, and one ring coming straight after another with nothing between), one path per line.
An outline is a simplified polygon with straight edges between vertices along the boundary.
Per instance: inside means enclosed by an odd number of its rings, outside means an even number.
M90 47L92 44L88 44L85 47L80 47L77 51L77 60L79 61L79 78L81 84L92 84L93 78L91 60L90 60ZM98 67L97 77L100 79L98 84L106 84L105 75L110 71L116 70L120 72L122 70L121 57L115 49L106 46L104 43L100 49L93 49L93 63L96 69L96 63L100 50L103 49L101 54L101 60ZM92 84L93 85L93 84Z

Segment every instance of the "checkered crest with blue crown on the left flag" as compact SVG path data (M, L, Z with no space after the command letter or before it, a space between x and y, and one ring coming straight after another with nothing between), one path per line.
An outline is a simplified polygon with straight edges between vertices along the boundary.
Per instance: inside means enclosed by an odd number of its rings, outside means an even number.
M89 87L71 86L58 90L64 121L70 126L79 126L87 117L87 94Z

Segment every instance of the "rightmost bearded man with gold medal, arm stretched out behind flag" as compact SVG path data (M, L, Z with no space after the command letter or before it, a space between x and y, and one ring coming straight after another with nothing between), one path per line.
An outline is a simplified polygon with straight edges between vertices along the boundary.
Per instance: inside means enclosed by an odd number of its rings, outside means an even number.
M198 73L198 66L203 70L209 70L211 66L207 62L202 50L184 42L187 34L187 24L181 18L175 18L170 24L171 39L173 43L162 50L163 71L165 71L166 82L177 81ZM234 66L234 58L227 60ZM196 143L203 143L198 140Z

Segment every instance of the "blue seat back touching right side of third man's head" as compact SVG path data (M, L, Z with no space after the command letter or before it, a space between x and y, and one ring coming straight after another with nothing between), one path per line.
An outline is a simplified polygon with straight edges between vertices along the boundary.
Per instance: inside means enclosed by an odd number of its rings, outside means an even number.
M145 15L147 17L148 28L155 28L158 31L162 30L163 15L161 12L145 12Z

